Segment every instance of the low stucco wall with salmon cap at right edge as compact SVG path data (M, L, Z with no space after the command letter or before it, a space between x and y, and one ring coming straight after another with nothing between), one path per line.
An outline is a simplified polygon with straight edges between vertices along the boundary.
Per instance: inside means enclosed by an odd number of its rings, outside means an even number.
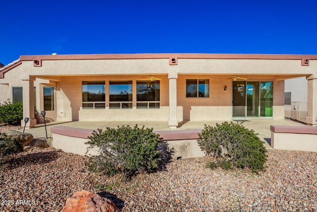
M317 152L317 127L271 126L274 149Z

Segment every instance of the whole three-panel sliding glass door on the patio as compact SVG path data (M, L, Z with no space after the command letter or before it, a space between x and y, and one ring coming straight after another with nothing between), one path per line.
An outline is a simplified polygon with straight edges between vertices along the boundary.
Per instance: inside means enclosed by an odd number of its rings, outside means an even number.
M272 117L272 81L232 81L232 117Z

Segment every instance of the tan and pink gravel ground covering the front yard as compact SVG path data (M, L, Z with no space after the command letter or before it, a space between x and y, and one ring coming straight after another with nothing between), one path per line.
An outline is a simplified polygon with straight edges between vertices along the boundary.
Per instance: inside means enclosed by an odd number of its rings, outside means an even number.
M317 211L317 153L268 150L261 175L205 169L206 159L173 161L166 171L122 183L90 173L86 157L53 148L22 152L0 165L0 211L60 211L83 189L122 212Z

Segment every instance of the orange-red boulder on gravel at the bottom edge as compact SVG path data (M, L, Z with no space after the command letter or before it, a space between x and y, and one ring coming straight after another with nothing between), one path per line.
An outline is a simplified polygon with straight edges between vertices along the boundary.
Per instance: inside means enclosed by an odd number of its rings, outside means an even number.
M61 212L120 212L120 210L111 200L82 190L67 198Z

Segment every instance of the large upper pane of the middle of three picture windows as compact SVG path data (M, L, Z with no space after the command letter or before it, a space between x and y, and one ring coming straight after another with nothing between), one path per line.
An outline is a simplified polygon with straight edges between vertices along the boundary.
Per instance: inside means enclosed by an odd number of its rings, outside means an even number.
M109 101L132 101L132 81L110 81Z

